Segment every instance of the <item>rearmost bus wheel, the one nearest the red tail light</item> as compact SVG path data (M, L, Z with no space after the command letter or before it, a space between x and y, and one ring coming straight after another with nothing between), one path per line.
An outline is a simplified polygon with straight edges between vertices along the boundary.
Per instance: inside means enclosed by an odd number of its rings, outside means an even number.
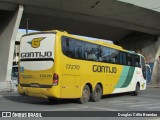
M81 104L87 103L90 98L90 88L88 85L85 85L82 91L82 97L78 99L78 102Z

